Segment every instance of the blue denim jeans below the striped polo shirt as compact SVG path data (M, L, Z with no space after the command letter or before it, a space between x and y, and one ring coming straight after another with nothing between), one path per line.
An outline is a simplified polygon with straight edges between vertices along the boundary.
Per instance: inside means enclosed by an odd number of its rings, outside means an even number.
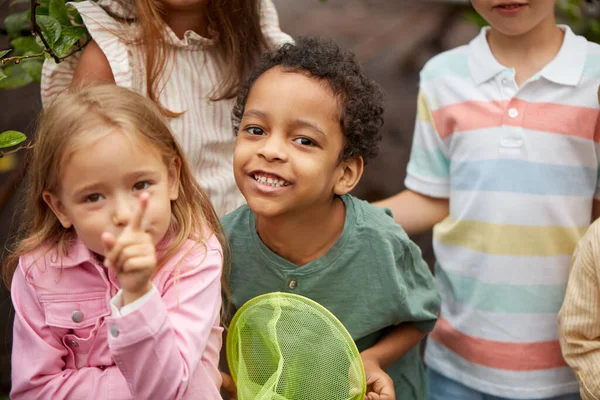
M513 400L510 397L498 397L471 389L457 381L427 370L429 400ZM579 393L565 394L544 400L581 400Z

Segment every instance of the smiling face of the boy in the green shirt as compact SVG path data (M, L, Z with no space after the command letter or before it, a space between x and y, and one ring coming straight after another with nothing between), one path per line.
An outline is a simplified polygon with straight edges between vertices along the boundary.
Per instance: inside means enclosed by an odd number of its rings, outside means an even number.
M341 110L327 82L275 67L244 107L234 153L240 191L257 215L298 214L344 194Z

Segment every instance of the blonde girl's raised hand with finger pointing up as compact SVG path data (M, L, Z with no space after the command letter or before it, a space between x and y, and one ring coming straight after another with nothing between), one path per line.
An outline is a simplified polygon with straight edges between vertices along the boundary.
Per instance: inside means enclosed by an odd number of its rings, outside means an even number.
M119 278L123 289L123 305L139 299L152 289L156 250L152 237L143 229L148 197L147 193L140 196L135 215L118 238L109 232L102 234L104 264L113 269Z

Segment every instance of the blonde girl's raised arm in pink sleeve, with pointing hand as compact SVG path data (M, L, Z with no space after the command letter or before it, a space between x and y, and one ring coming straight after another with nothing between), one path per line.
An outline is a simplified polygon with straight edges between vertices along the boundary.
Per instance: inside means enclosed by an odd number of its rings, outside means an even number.
M114 310L106 319L111 355L135 399L179 399L192 379L201 380L208 396L214 385L216 395L220 376L214 376L216 369L207 370L201 359L209 351L216 364L215 342L221 343L221 246L214 235L204 245L186 243L180 250L183 259L169 260L158 272L167 274L159 293L151 280L156 268L154 245L144 230L148 201L149 195L143 193L118 238L102 235L104 262L121 284L117 298L122 306L135 304L126 315Z

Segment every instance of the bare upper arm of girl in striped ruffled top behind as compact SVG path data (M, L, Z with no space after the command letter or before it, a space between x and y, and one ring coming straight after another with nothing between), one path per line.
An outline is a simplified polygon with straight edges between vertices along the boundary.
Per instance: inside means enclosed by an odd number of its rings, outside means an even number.
M80 88L103 83L115 83L115 77L106 55L104 55L100 46L92 40L85 46L81 54L81 60L77 65L71 85Z

